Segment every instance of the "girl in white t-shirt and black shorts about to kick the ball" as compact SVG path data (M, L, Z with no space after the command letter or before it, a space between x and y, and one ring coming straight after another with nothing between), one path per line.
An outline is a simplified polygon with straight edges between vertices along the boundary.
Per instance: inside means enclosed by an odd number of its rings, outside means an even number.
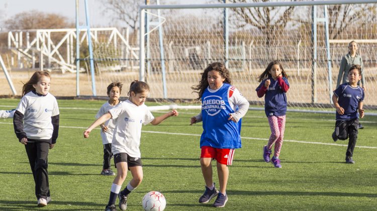
M159 117L153 117L148 107L144 104L149 94L149 85L143 81L135 80L130 85L130 96L118 107L109 110L108 113L97 119L84 131L84 138L89 137L91 130L110 120L117 119L112 142L114 162L117 167L117 176L111 186L109 203L105 210L116 210L115 201L119 197L119 208L127 209L127 196L135 189L143 179L143 169L140 156L140 136L142 124L158 125L171 116L178 116L176 110L172 110ZM127 169L132 174L127 187L121 190L127 176Z

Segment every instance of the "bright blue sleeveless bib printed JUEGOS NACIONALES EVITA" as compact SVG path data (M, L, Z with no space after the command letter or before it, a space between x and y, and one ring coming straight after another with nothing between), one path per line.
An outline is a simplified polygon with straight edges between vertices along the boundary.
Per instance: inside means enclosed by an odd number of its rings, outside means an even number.
M207 88L202 95L201 148L203 146L220 149L241 148L241 120L238 123L228 120L229 114L235 112L229 102L231 87L230 84L224 83L216 92L210 92Z

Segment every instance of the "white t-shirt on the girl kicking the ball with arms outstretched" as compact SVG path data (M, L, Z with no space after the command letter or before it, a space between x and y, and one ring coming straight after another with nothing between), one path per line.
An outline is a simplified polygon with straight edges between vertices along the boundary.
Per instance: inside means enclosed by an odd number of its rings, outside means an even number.
M135 105L130 100L109 110L112 119L117 119L112 142L113 154L127 153L131 157L140 158L140 137L142 124L147 125L154 117L145 104Z

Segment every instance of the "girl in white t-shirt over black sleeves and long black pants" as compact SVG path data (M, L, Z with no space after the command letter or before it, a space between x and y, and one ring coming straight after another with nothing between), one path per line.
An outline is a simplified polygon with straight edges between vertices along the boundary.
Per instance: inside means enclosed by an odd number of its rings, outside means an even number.
M38 206L46 206L51 200L47 156L59 132L59 108L48 92L50 82L48 72L35 72L22 88L23 97L13 117L16 136L28 154Z

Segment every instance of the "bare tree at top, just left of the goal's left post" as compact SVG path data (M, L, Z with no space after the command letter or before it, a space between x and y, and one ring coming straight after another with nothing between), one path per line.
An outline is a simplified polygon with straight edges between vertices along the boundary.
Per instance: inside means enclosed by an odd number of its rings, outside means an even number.
M139 5L145 4L145 0L103 0L104 13L120 21L137 31L139 28Z

